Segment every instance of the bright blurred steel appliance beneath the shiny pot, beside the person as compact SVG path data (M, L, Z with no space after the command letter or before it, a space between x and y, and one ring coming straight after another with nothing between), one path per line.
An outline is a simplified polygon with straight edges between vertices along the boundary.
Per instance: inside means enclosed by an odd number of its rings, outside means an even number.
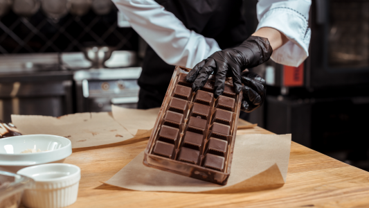
M109 112L111 104L136 108L141 67L76 71L77 112Z

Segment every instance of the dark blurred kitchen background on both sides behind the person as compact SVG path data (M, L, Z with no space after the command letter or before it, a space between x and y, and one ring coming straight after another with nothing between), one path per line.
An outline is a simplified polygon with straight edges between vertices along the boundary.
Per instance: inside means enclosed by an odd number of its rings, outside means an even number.
M249 35L257 0L244 1ZM242 117L369 171L369 0L312 0L309 58L267 81ZM0 0L0 119L136 107L145 42L110 0Z

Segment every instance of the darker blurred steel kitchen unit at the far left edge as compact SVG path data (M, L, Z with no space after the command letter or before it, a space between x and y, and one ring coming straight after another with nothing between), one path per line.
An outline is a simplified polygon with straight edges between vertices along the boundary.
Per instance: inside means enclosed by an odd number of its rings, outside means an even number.
M57 53L0 56L0 119L11 114L73 113L73 72L62 71Z

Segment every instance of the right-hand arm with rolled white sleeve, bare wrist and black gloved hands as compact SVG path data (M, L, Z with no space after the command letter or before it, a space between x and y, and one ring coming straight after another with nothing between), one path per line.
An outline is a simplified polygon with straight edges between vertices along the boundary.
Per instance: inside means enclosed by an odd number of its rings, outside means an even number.
M217 51L196 64L187 76L192 89L197 91L204 87L214 74L217 98L224 92L226 77L231 76L235 92L243 92L242 110L251 112L260 107L266 92L265 80L244 69L256 67L269 58L295 67L301 64L308 55L310 4L309 0L260 0L257 7L260 23L256 32L240 46Z

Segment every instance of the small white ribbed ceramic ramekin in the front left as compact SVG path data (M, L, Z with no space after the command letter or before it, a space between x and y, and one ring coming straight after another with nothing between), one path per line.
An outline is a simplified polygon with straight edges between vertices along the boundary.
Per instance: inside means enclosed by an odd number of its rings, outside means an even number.
M57 208L73 204L78 196L81 171L72 164L42 164L23 168L19 175L35 180L24 190L22 202L26 207Z

